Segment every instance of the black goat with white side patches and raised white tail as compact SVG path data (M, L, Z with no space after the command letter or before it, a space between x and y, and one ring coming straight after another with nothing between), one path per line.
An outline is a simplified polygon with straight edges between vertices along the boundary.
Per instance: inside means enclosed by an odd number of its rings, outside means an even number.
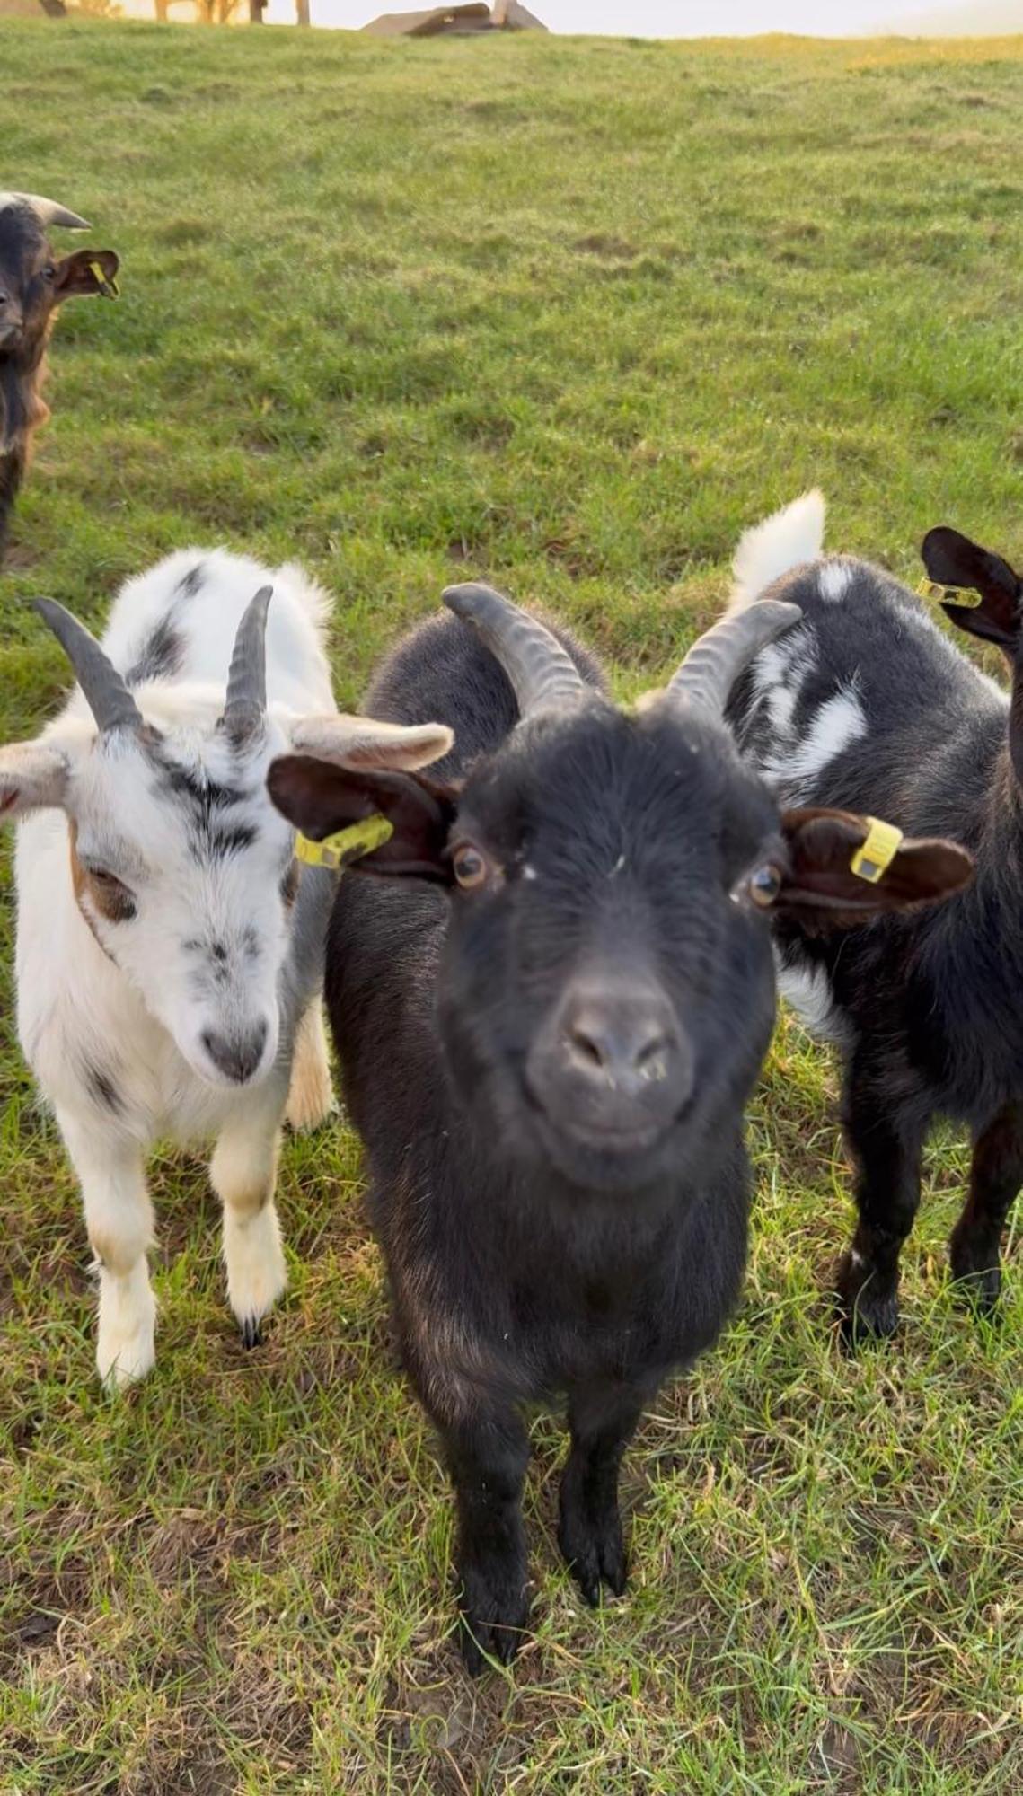
M808 494L750 532L736 603L779 596L799 630L736 686L743 753L784 803L879 812L971 851L976 878L921 916L881 918L827 939L781 921L781 990L838 1042L858 1227L838 1266L845 1331L890 1334L899 1252L919 1203L935 1115L973 1133L969 1196L951 1270L980 1307L1000 1291L1000 1237L1023 1182L1023 738L1018 656L1023 589L998 557L931 532L935 580L976 585L978 611L946 607L1014 666L1012 709L917 596L847 557L818 560L824 503ZM748 611L739 612L750 616Z

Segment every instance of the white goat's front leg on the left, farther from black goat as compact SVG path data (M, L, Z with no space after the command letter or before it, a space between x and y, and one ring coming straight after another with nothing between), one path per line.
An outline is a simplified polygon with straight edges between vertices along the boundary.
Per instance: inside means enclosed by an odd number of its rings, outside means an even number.
M142 1148L61 1110L57 1122L79 1176L99 1264L95 1363L104 1383L122 1388L156 1363L156 1299L145 1263L153 1246L153 1205Z

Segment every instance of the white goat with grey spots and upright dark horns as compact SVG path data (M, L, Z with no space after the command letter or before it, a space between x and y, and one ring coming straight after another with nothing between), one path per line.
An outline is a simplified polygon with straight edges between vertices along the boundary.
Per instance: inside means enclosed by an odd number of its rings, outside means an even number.
M411 769L450 731L336 711L327 602L296 568L170 555L127 582L102 647L52 600L38 609L79 686L41 736L0 749L0 814L25 819L18 1029L81 1180L99 1372L126 1385L154 1361L145 1149L215 1137L228 1297L251 1343L285 1284L285 1106L296 1124L330 1106L332 878L296 866L269 762Z

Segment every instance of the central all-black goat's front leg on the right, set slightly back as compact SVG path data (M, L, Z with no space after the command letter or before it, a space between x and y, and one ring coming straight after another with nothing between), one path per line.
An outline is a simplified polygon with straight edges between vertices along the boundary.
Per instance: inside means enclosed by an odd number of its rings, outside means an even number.
M558 1545L585 1600L621 1597L628 1564L617 1473L651 1385L583 1385L569 1392L571 1453L562 1475Z

